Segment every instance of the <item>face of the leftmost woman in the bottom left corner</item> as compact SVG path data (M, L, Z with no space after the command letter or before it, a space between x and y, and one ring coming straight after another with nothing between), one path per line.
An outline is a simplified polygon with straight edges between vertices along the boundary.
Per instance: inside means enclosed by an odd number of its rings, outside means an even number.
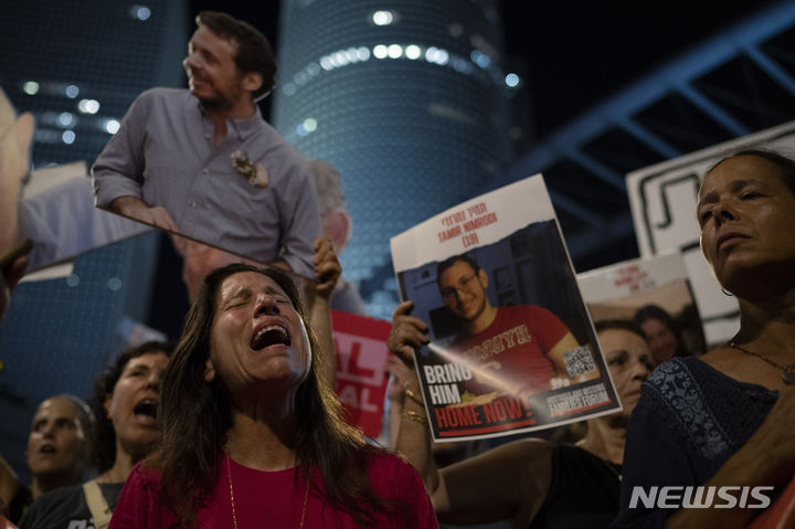
M74 402L55 396L39 405L25 451L31 474L81 474L86 464L86 431Z

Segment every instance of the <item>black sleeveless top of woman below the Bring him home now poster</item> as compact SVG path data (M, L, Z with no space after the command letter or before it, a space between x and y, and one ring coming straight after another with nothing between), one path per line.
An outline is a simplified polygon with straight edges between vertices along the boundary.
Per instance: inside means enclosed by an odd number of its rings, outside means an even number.
M618 512L621 465L579 446L552 447L552 482L529 529L598 529Z

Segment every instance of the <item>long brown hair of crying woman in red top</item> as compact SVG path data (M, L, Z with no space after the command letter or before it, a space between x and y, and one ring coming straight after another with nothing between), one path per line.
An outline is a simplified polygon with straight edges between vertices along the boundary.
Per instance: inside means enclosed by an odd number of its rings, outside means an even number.
M290 298L305 325L307 321L293 281L276 268L235 263L218 268L204 278L163 377L160 447L149 462L161 472L166 505L188 525L195 521L197 510L212 493L219 457L232 427L232 409L220 377L208 383L204 370L210 358L219 289L227 277L241 272L271 277ZM317 357L321 355L320 346L312 330L306 327L311 355ZM296 458L312 489L329 504L349 512L360 525L372 525L374 512L401 516L399 506L370 489L368 463L370 455L380 448L368 445L361 433L344 422L337 395L320 377L316 361L310 363L309 373L300 382L295 399ZM320 470L325 490L311 480L312 467Z

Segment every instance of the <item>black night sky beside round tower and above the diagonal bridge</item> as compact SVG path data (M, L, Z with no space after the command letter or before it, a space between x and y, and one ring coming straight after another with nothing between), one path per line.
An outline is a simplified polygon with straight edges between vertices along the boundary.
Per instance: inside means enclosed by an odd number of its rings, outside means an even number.
M772 0L693 2L501 0L506 55L530 75L534 128L543 137L644 74L719 34ZM194 0L256 25L276 47L278 2ZM386 3L384 4L386 7ZM191 30L193 24L190 25Z

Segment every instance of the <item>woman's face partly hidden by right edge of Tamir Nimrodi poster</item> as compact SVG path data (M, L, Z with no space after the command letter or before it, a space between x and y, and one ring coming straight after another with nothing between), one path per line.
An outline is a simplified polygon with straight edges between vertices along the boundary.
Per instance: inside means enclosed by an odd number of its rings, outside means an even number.
M616 393L628 416L640 398L640 384L654 370L646 340L625 329L606 329L598 334L600 346L611 371Z

